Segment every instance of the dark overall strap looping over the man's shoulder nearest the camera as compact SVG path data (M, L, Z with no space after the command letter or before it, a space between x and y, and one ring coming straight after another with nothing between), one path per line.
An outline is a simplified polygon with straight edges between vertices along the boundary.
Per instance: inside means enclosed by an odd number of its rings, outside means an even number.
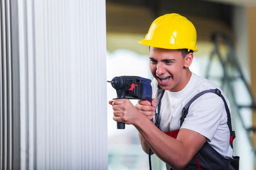
M227 112L227 125L228 125L228 128L230 130L230 145L233 149L233 140L235 139L236 137L236 134L235 134L235 131L232 130L232 125L231 125L231 115L230 115L230 110L227 106L227 102L224 98L224 96L221 94L221 91L219 89L210 89L210 90L206 90L206 91L202 91L200 93L198 93L197 95L195 95L183 108L183 111L182 111L182 116L180 117L180 126L183 124L184 122L184 119L186 118L187 114L188 114L188 111L189 111L189 106L192 104L192 102L194 102L196 99L198 99L198 97L202 96L203 94L206 94L206 93L215 93L217 94L218 96L221 97L221 99L223 100L224 102L224 105L225 105L225 110Z

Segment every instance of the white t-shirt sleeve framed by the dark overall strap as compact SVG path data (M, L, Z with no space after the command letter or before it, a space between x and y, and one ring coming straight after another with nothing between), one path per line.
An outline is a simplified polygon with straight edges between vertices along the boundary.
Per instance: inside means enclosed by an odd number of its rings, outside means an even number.
M207 93L192 102L181 128L198 132L212 141L218 126L226 121L227 114L221 97Z

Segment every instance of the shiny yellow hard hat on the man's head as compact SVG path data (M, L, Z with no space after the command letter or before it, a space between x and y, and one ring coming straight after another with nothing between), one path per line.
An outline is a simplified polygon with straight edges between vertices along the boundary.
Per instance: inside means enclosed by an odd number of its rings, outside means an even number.
M153 21L140 44L166 49L198 51L195 26L180 14L165 14Z

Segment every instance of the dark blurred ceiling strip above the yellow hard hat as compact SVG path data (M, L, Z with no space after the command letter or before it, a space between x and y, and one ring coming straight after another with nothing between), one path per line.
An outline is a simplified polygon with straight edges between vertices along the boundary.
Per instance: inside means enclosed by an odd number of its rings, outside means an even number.
M219 3L217 0L106 0L106 3L148 8L151 9L154 17L167 12L204 16L204 18L223 21L229 26L233 8L232 4Z

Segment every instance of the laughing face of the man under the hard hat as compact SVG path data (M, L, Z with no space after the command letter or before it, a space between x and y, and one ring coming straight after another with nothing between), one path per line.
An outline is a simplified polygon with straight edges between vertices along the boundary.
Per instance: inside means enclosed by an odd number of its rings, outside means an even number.
M177 92L189 82L192 53L183 57L178 50L151 47L149 59L151 74L162 89Z

